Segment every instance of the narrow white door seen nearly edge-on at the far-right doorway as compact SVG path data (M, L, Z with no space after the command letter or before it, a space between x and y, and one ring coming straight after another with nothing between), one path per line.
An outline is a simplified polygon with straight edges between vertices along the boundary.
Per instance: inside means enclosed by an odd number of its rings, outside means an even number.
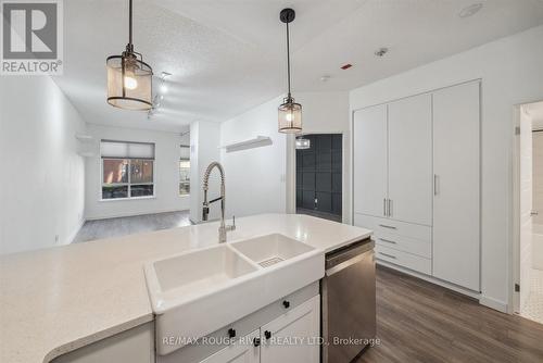
M530 292L532 270L532 120L520 108L520 296L519 309ZM520 311L518 311L520 312Z

